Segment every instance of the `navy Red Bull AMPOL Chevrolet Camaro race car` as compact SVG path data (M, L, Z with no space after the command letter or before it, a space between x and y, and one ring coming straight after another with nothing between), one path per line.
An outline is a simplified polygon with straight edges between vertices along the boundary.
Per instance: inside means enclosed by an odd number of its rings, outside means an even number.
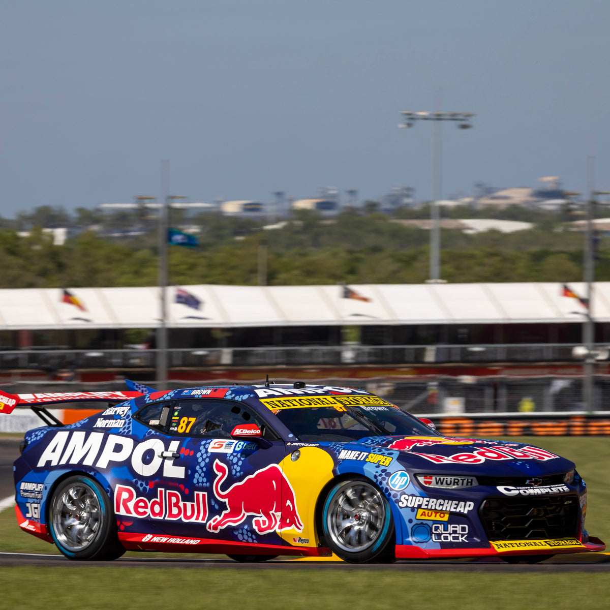
M447 438L364 390L292 385L2 393L30 406L20 527L70 559L125 550L349 562L601 551L575 465L532 445ZM70 425L45 406L107 406Z

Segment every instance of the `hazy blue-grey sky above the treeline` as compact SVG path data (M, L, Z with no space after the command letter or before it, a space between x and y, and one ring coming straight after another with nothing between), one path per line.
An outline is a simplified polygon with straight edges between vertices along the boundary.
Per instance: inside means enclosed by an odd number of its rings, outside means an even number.
M172 192L192 201L430 194L560 176L610 190L608 0L0 0L0 215Z

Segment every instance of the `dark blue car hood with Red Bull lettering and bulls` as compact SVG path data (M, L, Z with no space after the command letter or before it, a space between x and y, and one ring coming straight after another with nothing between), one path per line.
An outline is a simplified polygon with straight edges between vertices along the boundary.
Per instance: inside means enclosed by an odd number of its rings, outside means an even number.
M437 436L368 437L349 445L397 451L395 458L420 472L536 476L565 473L573 462L526 443ZM348 446L346 448L348 448ZM386 453L386 451L383 451Z

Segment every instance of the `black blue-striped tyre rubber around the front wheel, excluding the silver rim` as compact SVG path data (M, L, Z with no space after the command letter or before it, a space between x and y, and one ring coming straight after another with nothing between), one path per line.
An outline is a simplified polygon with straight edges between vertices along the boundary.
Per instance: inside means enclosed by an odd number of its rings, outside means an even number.
M354 553L350 553L350 551L346 551L335 544L334 540L332 540L331 534L328 531L328 511L331 506L332 499L335 497L336 493L342 489L342 487L345 487L350 483L367 483L373 487L373 489L376 489L383 500L385 512L383 529L375 544L373 544L370 548L366 548L363 551L357 551ZM331 490L326 495L323 504L321 525L326 544L331 551L343 559L343 561L348 561L350 563L370 563L376 561L391 561L394 557L396 532L394 528L392 509L390 508L390 503L387 500L386 495L381 489L379 489L378 486L376 486L375 483L373 483L373 481L371 481L371 479L367 479L364 476L354 475L350 476L349 478L342 479L341 481L337 482L336 485L332 486Z

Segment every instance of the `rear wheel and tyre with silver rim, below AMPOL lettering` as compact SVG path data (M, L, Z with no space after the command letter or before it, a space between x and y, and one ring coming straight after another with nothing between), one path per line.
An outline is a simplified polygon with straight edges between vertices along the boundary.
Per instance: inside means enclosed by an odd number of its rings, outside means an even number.
M84 475L59 483L49 504L49 529L57 548L80 561L109 561L124 552L108 494Z

